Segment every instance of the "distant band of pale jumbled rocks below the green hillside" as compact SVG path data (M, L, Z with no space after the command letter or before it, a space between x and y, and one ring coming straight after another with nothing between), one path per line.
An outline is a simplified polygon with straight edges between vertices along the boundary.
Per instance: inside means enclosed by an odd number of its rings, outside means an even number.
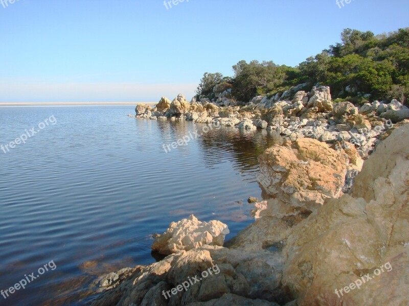
M357 147L362 159L367 159L379 138L398 121L409 118L409 109L399 101L390 104L379 101L366 103L359 109L345 101L334 103L328 86L314 86L310 92L306 84L292 87L284 93L257 96L245 106L236 106L230 89L220 92L217 98L193 98L189 103L183 94L172 102L162 97L156 107L145 104L135 109L137 118L193 121L236 126L240 130L280 133L285 138L312 138L329 145L347 142Z

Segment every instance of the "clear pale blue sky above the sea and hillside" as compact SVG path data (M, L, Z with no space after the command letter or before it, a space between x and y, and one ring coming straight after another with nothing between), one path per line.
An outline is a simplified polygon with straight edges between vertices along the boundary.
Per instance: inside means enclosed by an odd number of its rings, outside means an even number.
M343 29L409 27L407 0L5 1L0 103L190 100L240 60L296 66Z

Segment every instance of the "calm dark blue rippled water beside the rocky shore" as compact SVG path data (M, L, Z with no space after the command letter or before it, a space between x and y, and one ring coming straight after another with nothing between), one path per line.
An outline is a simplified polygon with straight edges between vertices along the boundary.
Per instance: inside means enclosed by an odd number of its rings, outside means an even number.
M98 275L154 262L151 235L190 214L228 224L226 239L252 222L257 156L276 137L222 127L166 153L204 125L127 117L133 109L0 108L3 145L57 120L0 150L0 289L56 265L0 305L85 304Z

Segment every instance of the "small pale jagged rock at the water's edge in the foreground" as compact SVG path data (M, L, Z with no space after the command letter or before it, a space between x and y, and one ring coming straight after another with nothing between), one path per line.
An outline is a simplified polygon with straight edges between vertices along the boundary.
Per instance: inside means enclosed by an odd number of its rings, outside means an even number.
M229 233L228 226L220 221L201 222L190 215L188 219L170 223L168 230L155 239L152 250L168 255L203 245L223 245Z

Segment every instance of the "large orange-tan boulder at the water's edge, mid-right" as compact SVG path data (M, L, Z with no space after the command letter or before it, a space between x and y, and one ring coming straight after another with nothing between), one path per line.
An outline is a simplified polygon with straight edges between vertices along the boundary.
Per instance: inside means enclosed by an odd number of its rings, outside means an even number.
M347 157L318 140L301 138L267 149L257 178L265 191L284 201L324 203L344 186Z

